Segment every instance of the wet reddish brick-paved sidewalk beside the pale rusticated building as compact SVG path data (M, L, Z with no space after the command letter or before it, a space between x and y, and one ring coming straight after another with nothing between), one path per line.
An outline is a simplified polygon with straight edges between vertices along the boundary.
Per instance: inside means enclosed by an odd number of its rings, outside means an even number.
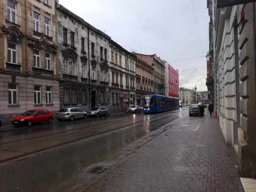
M188 116L78 191L243 192L236 159L217 118Z

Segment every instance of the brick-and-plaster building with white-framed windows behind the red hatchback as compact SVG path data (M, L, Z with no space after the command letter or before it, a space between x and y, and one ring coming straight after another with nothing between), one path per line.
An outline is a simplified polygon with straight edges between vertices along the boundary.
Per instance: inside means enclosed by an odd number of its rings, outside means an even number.
M56 3L0 2L0 115L4 122L31 108L59 108Z

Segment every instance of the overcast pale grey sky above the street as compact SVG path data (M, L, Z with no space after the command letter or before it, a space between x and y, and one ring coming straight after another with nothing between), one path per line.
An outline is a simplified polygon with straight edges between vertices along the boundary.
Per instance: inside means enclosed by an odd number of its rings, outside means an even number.
M59 0L127 51L156 54L179 70L180 86L207 91L206 0Z

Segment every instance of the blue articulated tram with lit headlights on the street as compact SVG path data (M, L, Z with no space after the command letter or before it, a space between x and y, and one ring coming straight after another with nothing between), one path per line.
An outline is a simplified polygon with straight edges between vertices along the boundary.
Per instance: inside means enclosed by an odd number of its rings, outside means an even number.
M143 113L158 113L180 108L179 98L165 95L144 95Z

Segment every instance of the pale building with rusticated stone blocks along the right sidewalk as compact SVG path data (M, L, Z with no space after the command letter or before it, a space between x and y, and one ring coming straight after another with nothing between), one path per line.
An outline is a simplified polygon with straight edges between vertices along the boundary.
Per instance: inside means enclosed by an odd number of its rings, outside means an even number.
M237 153L240 176L256 179L255 3L229 3L218 7L207 1L211 92L225 142Z

